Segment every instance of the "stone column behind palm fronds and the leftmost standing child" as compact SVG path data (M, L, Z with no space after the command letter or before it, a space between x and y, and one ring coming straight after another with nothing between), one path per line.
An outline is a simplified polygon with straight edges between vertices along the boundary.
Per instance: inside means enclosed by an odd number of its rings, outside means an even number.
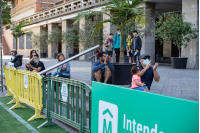
M112 11L108 10L107 13L112 14ZM106 14L103 14L103 20L106 20L106 19L110 19L110 16L108 16ZM103 24L103 28L104 28L103 29L104 43L108 39L110 33L113 33L113 38L114 38L114 36L116 34L116 33L114 33L116 27L114 25L113 26L111 26L111 25L112 25L111 23L105 23L105 24ZM103 51L106 51L105 44L103 44ZM112 63L116 63L116 57L115 57L114 50L113 50L113 56L112 56L111 62Z

